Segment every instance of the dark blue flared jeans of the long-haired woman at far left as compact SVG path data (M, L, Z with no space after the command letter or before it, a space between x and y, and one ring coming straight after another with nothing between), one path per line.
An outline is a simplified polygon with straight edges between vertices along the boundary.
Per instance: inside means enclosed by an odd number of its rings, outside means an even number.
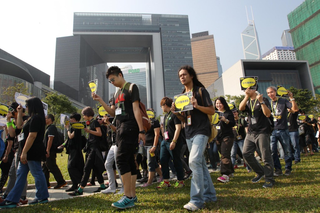
M8 194L6 200L18 203L27 181L28 172L31 172L32 176L35 178L36 183L36 196L35 199L43 200L49 197L48 186L44 177L44 173L41 168L41 161L28 161L27 164L18 165L17 170L17 180Z

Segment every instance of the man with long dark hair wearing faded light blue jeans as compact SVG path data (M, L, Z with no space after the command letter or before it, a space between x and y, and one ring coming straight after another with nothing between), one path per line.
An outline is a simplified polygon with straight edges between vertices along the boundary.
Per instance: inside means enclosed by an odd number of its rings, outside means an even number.
M204 158L205 146L211 133L210 121L207 114L214 114L214 106L208 91L197 79L196 72L191 66L182 66L178 71L179 79L184 85L182 93L192 92L190 102L193 110L175 111L172 103L171 111L185 123L186 140L189 156L189 167L193 172L190 189L190 202L183 208L196 211L203 208L204 202L216 201L216 191L206 166Z

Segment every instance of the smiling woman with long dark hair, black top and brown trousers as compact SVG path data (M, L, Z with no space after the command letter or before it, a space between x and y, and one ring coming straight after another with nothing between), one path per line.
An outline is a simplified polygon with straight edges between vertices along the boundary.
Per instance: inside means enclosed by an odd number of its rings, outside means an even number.
M232 127L236 125L233 113L228 106L228 103L223 97L219 97L214 102L215 110L223 112L223 116L220 118L220 123L217 126L218 135L216 137L216 143L221 153L221 177L218 181L222 183L228 183L230 177L235 172L231 162L231 149L234 141L234 134Z

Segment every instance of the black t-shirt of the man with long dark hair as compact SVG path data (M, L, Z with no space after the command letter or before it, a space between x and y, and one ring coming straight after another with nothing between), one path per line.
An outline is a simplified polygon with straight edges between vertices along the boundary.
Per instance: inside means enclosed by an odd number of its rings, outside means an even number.
M204 107L213 105L210 95L205 88L201 88L201 94L203 99L202 104L202 99L199 94L199 88L200 87L194 86L192 90L192 95L196 98L198 105ZM187 116L189 114L191 115L191 125L186 125L185 127L186 139L190 139L198 134L210 136L210 121L207 114L195 108L193 108L193 110L185 111L184 113L186 124L188 124Z

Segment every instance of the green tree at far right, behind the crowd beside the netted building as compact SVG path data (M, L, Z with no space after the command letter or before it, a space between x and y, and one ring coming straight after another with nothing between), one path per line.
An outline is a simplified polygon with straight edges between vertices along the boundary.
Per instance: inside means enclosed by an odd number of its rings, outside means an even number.
M319 100L316 99L312 92L308 89L297 89L295 87L289 88L290 92L293 93L293 97L301 110L305 110L306 113L315 110L315 107L319 107ZM319 108L318 108L319 109Z

